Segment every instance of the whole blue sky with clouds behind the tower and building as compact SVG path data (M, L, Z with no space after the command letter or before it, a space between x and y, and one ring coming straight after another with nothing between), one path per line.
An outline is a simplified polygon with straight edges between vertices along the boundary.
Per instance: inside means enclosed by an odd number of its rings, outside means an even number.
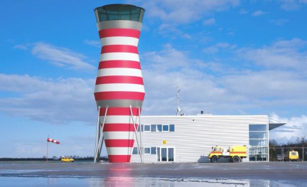
M146 9L143 115L267 114L307 132L307 1L0 1L0 158L93 156L100 44L93 9ZM105 154L103 152L102 154Z

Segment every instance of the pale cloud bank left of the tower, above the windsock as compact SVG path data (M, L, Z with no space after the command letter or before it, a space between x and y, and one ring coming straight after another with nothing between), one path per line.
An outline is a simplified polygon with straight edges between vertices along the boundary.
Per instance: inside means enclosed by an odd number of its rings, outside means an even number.
M0 80L0 92L9 93L0 97L0 112L55 124L95 122L94 79L0 74Z

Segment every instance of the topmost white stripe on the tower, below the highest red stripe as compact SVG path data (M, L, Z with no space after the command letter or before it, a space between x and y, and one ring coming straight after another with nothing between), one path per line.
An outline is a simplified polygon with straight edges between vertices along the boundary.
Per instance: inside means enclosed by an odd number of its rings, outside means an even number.
M106 38L100 38L100 43L102 46L109 45L129 45L129 46L138 46L139 39L126 36L112 36Z

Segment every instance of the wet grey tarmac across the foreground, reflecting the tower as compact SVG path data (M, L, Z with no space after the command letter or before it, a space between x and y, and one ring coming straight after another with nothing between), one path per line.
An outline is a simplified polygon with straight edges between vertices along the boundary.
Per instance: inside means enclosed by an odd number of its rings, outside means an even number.
M161 186L164 186L166 182L175 182L175 185L171 186L180 186L179 184L182 184L178 183L180 181L193 182L193 184L195 184L196 181L204 184L204 180L207 182L209 181L210 184L212 184L212 181L215 183L218 182L220 183L218 186L221 186L221 180L223 181L222 183L227 184L228 186L233 184L233 181L238 180L239 183L235 182L235 186L238 186L241 182L241 184L247 184L245 183L246 181L248 181L248 186L257 186L256 184L259 184L259 181L261 181L261 183L264 182L264 186L271 186L272 183L276 186L285 186L286 184L286 186L307 186L307 162L168 164L91 164L50 162L40 164L0 164L0 181L1 178L6 179L6 181L10 181L9 178L21 177L95 178L95 180L100 181L100 184L102 181L105 182L111 178L111 186L114 183L116 184L118 181L125 181L127 178L130 180L130 182L133 181L136 186L138 186L137 184L141 183L146 186L149 181L155 180L163 180L164 182L161 184ZM144 181L145 179L146 181ZM254 181L255 185L251 185L251 181ZM90 183L93 184L93 182ZM124 183L126 183L126 181Z

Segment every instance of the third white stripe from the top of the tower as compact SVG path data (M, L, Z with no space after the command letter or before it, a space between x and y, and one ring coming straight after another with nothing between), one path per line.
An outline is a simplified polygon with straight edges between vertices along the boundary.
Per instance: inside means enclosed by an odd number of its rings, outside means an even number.
M115 75L142 77L141 70L134 68L104 68L97 73L97 77Z

